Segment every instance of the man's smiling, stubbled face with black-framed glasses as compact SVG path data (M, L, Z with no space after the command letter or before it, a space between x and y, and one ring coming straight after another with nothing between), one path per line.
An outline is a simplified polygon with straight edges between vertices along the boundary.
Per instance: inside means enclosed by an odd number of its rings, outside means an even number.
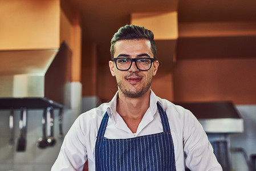
M119 40L115 44L114 58L153 58L149 40ZM147 54L147 55L146 55ZM152 63L150 70L140 71L135 62L127 71L117 70L115 62L109 61L112 76L116 76L119 92L128 97L141 97L150 91L152 77L156 75L159 62Z

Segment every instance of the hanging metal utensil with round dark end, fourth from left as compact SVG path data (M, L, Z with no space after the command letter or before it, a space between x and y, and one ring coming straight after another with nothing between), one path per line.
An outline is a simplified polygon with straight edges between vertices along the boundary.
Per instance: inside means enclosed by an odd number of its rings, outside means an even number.
M54 139L54 111L52 107L47 108L47 144L53 146L56 143Z

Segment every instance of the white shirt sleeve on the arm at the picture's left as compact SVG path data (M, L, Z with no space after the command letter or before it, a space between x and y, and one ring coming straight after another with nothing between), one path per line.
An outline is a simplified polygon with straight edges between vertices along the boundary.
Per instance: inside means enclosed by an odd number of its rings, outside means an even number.
M83 170L87 160L87 150L81 120L76 119L64 138L58 158L51 171Z

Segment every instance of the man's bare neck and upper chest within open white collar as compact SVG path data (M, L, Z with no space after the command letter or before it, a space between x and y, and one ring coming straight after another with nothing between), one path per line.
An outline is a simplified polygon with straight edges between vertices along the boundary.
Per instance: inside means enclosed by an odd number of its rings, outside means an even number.
M150 90L143 96L131 98L119 92L116 111L133 133L137 131L145 112L149 108Z

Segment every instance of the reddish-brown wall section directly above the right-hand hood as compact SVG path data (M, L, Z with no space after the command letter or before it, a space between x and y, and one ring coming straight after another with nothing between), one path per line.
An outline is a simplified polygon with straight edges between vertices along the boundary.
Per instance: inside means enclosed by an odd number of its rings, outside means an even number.
M255 66L253 58L180 60L174 68L174 100L256 104Z

